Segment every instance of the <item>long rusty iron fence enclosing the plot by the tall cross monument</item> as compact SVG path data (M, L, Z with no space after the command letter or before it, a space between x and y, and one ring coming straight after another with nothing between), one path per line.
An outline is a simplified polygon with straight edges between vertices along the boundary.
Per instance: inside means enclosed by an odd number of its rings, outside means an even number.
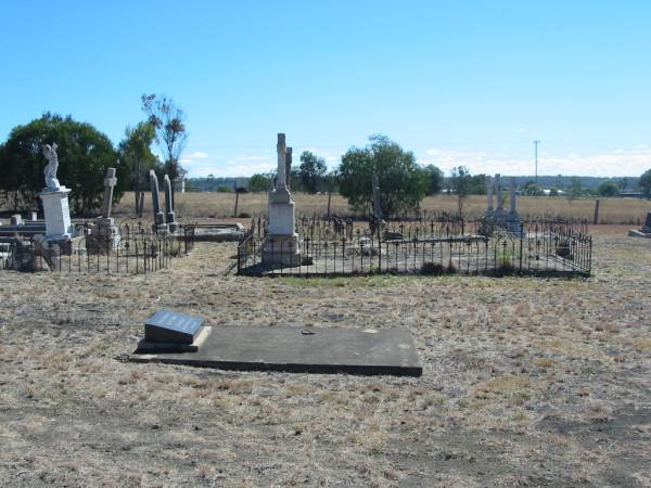
M589 275L592 240L582 226L542 219L508 232L486 220L449 216L393 221L382 228L336 218L301 218L298 249L265 241L264 232L252 228L238 247L238 273Z

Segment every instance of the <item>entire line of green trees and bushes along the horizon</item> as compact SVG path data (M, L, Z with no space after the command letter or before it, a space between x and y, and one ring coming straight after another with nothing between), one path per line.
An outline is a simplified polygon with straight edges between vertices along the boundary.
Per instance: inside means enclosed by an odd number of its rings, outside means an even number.
M169 98L144 94L141 98L145 119L127 127L124 139L114 147L108 138L87 123L44 113L24 126L15 127L0 144L0 206L17 210L34 208L36 194L44 184L44 143L59 144L59 178L72 190L71 201L77 214L87 214L101 205L103 177L108 167L116 167L118 183L114 198L133 190L136 208L142 211L149 171L153 169L176 179L186 170L180 155L188 132L186 114ZM157 144L162 158L152 151ZM434 165L422 166L411 151L404 150L386 136L369 138L363 147L352 146L340 165L329 169L326 159L304 151L299 164L292 168L290 187L294 192L340 193L356 209L369 211L372 203L371 177L378 175L382 210L392 215L414 209L425 196L445 191L457 195L458 211L463 211L468 195L486 194L486 176L471 175L465 166L452 169L444 177ZM256 174L247 179L248 191L265 192L273 187L276 175ZM189 191L231 192L238 179L189 178ZM526 195L616 196L623 190L636 188L651 196L651 169L636 178L603 179L591 177L539 177L537 182L518 178L521 193Z

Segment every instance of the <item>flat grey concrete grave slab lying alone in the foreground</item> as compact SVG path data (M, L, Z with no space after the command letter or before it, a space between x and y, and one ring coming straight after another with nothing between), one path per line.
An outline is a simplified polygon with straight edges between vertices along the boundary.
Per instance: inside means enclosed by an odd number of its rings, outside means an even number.
M156 313L164 314L173 313ZM400 329L206 326L194 328L190 334L179 332L175 325L152 326L150 321L145 324L145 338L129 356L130 361L238 371L422 374L413 339ZM191 319L184 321L190 323ZM162 337L148 339L154 331ZM190 348L193 343L197 346Z

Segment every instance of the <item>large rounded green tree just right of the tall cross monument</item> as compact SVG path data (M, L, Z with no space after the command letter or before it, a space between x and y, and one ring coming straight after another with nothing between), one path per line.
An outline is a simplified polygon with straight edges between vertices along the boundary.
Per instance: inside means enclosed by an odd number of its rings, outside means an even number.
M340 193L355 208L372 202L371 176L380 180L381 204L385 215L416 207L425 196L427 179L410 151L385 136L371 136L363 147L350 147L339 167Z

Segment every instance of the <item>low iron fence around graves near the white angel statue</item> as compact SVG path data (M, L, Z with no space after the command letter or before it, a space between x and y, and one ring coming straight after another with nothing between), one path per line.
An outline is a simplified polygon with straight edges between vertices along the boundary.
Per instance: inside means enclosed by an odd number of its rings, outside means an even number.
M78 236L61 244L34 235L5 237L0 268L143 274L169 268L175 257L187 255L194 247L193 224L180 224L168 235L156 234L141 222L119 226L114 235L93 235L89 230L89 226L81 223L76 229Z

